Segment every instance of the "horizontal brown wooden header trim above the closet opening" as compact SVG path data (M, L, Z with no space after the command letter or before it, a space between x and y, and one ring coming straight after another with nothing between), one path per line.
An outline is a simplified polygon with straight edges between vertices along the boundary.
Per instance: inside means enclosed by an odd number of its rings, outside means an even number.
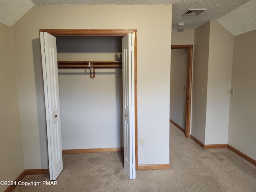
M128 33L137 32L131 29L40 29L39 31L48 32L53 36L126 36Z

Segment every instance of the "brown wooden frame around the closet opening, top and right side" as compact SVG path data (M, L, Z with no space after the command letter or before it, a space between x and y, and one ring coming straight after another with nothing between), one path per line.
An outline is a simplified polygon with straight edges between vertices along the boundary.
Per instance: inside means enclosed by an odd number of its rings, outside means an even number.
M40 29L53 36L126 36L134 33L134 117L135 117L135 169L138 169L138 123L137 123L137 30L99 29Z

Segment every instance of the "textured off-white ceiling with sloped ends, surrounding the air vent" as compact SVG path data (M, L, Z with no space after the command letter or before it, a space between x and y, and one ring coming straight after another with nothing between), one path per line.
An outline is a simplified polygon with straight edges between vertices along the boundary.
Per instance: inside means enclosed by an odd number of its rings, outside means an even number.
M0 22L14 25L35 4L172 4L172 29L195 29L209 20L218 20L234 36L256 29L256 0L0 0ZM198 16L182 16L189 8L207 10ZM178 22L184 26L178 27Z

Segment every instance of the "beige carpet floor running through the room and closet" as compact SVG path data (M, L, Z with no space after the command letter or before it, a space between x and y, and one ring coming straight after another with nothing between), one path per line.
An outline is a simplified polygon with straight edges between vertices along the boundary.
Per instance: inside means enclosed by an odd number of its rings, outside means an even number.
M130 180L122 152L64 154L57 186L13 192L256 192L256 166L228 149L203 149L170 124L170 170L136 170ZM22 181L49 181L26 175Z

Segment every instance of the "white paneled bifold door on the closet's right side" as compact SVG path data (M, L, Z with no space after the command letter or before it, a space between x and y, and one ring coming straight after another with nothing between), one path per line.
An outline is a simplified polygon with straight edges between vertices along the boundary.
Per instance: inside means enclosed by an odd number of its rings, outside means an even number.
M122 38L124 170L135 179L134 34Z

